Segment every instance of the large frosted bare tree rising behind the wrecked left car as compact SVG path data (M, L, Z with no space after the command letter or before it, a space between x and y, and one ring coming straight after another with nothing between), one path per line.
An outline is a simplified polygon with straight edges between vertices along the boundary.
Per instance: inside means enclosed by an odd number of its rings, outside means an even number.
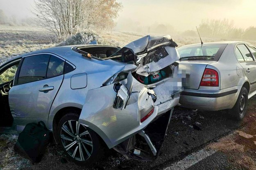
M39 25L66 38L79 28L113 28L122 4L116 0L37 0L34 9Z

